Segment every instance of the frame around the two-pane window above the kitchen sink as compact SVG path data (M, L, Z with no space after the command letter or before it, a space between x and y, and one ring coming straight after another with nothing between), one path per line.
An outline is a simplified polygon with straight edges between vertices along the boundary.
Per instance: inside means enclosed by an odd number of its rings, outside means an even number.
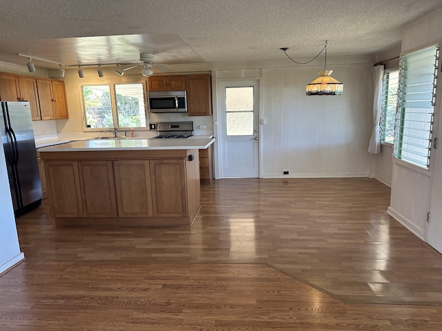
M83 122L83 132L103 132L106 128L87 128L86 127L86 110L84 108L84 96L83 96L83 87L84 86L109 86L110 93L111 93L111 109L112 109L112 116L113 116L113 123L118 123L118 114L117 114L117 99L116 99L116 93L115 93L115 86L116 85L131 85L131 84L142 84L143 87L143 95L144 95L144 109L146 114L146 126L142 127L136 127L136 128L124 128L115 126L112 128L117 128L121 130L148 130L149 126L149 117L148 117L148 104L147 104L147 86L146 81L134 79L128 80L128 81L103 81L103 82L84 82L79 84L79 97L81 99L80 106L81 106L81 120Z

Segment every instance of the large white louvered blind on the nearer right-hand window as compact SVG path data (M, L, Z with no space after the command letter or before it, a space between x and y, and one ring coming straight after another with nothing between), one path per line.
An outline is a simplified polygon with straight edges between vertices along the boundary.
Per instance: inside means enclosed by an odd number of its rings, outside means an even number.
M394 157L428 169L436 99L439 45L401 57Z

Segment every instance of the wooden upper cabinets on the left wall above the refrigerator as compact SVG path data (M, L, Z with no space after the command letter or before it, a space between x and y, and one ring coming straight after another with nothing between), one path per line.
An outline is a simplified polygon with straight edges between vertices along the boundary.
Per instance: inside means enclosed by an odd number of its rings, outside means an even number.
M68 119L64 81L0 73L0 101L29 101L33 121Z

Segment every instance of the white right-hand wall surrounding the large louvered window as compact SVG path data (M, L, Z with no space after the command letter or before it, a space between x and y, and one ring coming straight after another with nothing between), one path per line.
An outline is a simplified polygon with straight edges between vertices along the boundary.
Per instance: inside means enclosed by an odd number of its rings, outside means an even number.
M429 46L431 43L438 43L441 39L442 10L438 10L404 28L402 52L417 50ZM438 127L442 128L442 117L440 116L442 84L440 81L438 81L438 84L436 106L434 108L433 137L437 136ZM432 155L434 156L434 154L440 152L440 149L432 150ZM397 160L393 163L392 197L388 212L423 240L426 237L426 218L427 212L430 211L430 200L432 198L434 159L435 157L430 158L429 171L421 170Z

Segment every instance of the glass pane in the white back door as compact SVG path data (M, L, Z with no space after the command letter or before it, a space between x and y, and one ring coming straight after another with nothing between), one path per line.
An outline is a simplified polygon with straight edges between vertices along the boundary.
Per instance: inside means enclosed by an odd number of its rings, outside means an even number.
M227 135L253 135L253 87L226 88Z

